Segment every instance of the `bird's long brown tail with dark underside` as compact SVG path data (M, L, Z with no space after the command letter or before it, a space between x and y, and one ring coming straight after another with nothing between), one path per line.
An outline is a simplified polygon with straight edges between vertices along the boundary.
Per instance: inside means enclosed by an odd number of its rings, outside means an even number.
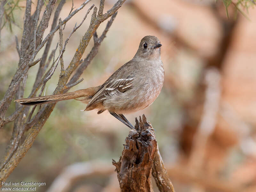
M69 100L69 99L84 97L83 100L85 101L88 100L89 102L92 96L98 91L98 89L99 89L98 87L90 87L87 89L77 90L75 92L61 93L56 95L48 95L48 96L34 97L34 98L24 98L24 99L18 99L15 101L19 102L21 105L40 105L44 103L52 103L52 102L57 102L61 100Z

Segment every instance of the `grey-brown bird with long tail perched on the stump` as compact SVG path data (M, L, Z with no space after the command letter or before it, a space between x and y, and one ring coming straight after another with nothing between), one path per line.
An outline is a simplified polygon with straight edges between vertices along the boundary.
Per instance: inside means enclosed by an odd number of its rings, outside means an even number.
M76 99L87 104L85 111L98 109L100 114L108 110L111 115L134 129L123 114L144 109L158 97L164 84L161 46L156 36L143 37L132 60L117 69L100 86L15 101L22 105L39 105Z

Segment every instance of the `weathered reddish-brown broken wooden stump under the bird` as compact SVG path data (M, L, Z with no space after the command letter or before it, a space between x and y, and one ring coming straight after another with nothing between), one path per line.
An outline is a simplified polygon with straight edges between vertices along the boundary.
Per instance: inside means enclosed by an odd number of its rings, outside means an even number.
M135 119L135 130L125 139L124 150L119 161L113 160L121 191L151 192L151 173L160 191L174 192L162 157L158 151L156 136L145 115L140 122ZM153 168L154 167L154 168ZM153 168L153 170L152 170Z

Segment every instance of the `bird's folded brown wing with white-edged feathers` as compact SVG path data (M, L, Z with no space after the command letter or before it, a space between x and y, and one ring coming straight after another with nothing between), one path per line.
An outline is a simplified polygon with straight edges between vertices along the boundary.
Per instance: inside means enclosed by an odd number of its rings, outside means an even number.
M134 76L131 75L126 78L113 78L113 76L110 76L108 80L100 86L100 89L92 97L86 108L106 100L117 92L125 92L127 89L131 88L133 79Z

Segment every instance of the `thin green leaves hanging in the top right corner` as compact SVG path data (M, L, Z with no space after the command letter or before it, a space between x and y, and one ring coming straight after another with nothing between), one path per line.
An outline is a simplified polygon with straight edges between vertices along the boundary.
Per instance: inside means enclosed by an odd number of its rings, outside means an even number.
M233 4L236 8L236 12L240 12L242 15L244 15L244 17L246 17L248 20L249 18L247 17L247 15L242 11L242 10L246 10L248 13L248 8L249 7L253 7L256 5L256 1L255 0L237 0L236 3L232 0L222 0L223 4L226 8L226 13L227 13L227 17L228 16L228 6Z

